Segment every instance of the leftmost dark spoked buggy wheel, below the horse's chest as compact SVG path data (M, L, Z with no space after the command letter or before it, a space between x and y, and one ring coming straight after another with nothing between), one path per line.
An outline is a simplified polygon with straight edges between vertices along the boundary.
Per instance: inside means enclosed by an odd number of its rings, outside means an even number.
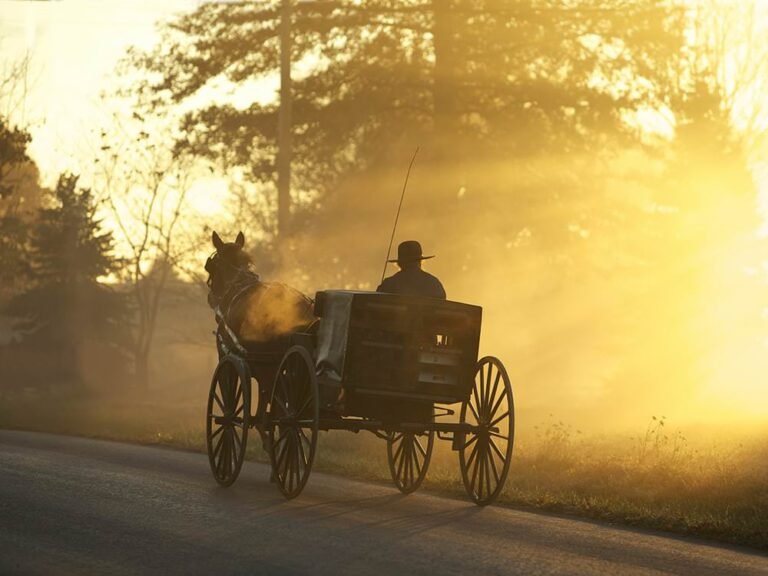
M240 474L248 442L251 382L242 362L224 358L208 394L206 445L216 482L231 485Z

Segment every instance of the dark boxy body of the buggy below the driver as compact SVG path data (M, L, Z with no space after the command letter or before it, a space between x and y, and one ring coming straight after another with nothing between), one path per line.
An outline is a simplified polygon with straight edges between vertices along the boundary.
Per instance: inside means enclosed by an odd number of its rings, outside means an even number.
M329 290L321 317L321 383L355 395L451 404L468 397L480 343L479 306L396 294Z

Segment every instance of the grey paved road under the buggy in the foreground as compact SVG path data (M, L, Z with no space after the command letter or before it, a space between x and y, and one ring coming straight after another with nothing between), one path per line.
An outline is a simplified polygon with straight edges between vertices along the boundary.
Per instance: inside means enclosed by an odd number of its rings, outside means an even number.
M286 502L266 466L228 489L205 456L0 432L0 574L729 574L768 556L478 508L314 474Z

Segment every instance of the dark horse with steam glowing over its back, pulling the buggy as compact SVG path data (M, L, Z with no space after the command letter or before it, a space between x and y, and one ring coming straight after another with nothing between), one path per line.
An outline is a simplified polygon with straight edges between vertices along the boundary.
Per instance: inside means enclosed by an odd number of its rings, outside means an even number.
M285 284L262 282L243 250L242 232L224 242L214 232L216 252L208 258L208 304L219 324L219 353L244 353L280 340L293 332L306 332L316 321L312 300Z

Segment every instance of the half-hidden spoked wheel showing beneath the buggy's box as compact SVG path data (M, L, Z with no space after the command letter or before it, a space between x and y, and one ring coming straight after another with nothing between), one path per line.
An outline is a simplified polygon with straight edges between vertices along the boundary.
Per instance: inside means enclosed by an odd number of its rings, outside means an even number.
M434 443L434 432L390 432L387 435L389 472L403 494L417 490L426 478Z

